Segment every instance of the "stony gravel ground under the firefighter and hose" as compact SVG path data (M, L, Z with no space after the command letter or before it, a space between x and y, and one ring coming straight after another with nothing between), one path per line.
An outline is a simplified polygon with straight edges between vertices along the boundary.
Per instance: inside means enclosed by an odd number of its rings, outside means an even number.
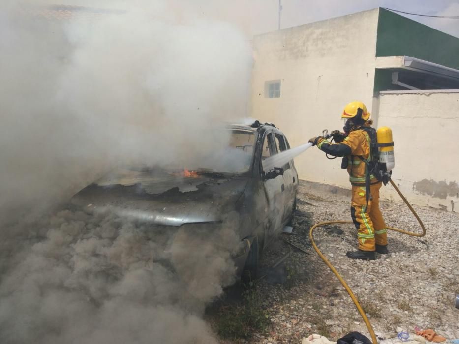
M389 186L387 186L389 187ZM384 191L382 191L384 192ZM349 191L302 182L293 234L282 234L262 258L262 294L271 324L241 343L301 343L302 337L320 333L337 340L350 331L369 337L365 323L335 275L315 253L308 239L311 224L350 220ZM389 226L421 231L402 203L381 202ZM459 338L459 215L415 207L427 228L422 238L389 231L388 255L375 261L345 256L356 248L352 225L315 231L315 241L347 281L369 316L380 340L393 338L400 329L433 328L446 338ZM289 240L307 254L284 242ZM290 252L276 269L269 268Z

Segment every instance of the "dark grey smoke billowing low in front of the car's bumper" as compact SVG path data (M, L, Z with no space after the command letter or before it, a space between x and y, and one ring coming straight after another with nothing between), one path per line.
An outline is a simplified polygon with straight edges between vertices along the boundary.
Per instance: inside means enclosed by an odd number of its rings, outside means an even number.
M215 342L200 316L234 282L232 229L172 235L70 211L43 221L2 278L1 343Z

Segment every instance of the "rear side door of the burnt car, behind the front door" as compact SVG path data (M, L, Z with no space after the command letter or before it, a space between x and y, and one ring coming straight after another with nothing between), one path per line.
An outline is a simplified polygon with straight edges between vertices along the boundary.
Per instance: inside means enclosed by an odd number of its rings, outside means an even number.
M287 141L285 137L280 133L274 134L275 145L278 152L283 152L288 149ZM293 161L287 162L283 166L279 166L284 169L284 212L282 220L286 222L291 214L293 203L295 202L296 191L298 187L298 175L294 169Z

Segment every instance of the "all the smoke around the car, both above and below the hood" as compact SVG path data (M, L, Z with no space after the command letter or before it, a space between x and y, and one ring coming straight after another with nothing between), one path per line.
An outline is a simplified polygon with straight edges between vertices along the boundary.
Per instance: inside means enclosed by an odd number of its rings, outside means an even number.
M230 225L40 214L114 166L224 146L209 133L245 116L248 41L167 1L88 5L0 5L0 342L213 343L201 315L235 280Z

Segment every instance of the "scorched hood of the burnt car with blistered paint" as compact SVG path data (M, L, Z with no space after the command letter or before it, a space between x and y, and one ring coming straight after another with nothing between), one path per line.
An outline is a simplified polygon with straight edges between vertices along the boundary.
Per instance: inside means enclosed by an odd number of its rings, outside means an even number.
M70 203L86 212L111 212L155 225L216 222L234 209L247 181L243 176L119 170L81 190Z

